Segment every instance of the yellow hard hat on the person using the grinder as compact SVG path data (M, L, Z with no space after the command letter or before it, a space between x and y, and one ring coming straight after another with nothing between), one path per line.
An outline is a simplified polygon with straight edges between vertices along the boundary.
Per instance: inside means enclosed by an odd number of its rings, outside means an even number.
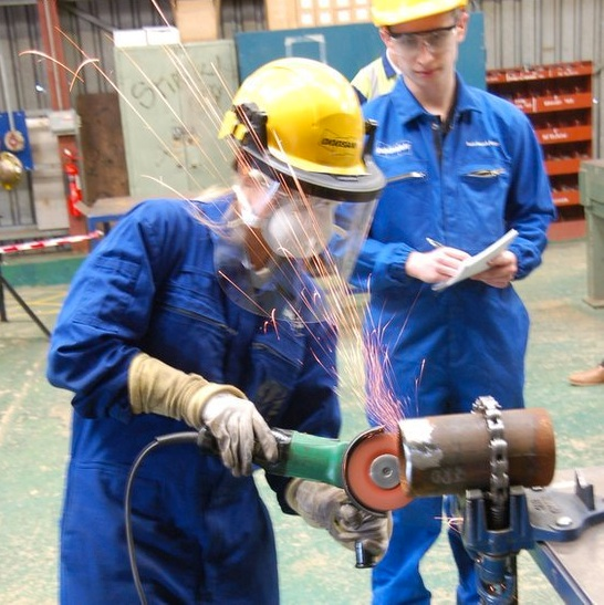
M373 199L383 188L356 93L333 67L303 58L272 61L243 81L232 105L219 137L233 136L262 171L330 199Z

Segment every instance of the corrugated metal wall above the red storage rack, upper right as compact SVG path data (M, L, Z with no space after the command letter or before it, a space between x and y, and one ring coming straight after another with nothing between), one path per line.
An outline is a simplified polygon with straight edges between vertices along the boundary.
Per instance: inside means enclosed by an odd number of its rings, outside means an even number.
M485 14L488 70L593 61L593 153L602 157L604 0L475 0L472 7Z

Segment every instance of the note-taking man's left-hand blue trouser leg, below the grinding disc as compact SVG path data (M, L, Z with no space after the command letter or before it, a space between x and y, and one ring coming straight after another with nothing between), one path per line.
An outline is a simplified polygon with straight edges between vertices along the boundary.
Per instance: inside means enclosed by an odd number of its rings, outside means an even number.
M373 605L430 603L419 562L440 533L441 502L439 497L420 498L393 511L388 551L372 574Z

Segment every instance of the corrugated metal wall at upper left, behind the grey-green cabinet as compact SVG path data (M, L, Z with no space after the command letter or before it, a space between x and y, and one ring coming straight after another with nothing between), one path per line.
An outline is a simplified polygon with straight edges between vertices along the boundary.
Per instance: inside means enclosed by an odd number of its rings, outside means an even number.
M59 1L58 9L65 34L65 63L74 69L82 62L80 46L86 55L98 59L108 75L114 66L113 30L159 27L166 24L165 20L174 24L170 0L69 0ZM263 0L221 0L223 38L264 27ZM28 50L42 50L37 1L0 0L0 54L7 62L13 105L31 113L48 109L50 100L43 60L21 54ZM95 70L86 69L85 75L74 94L111 92L111 86ZM69 74L65 73L65 77L70 79ZM0 111L6 111L1 102Z

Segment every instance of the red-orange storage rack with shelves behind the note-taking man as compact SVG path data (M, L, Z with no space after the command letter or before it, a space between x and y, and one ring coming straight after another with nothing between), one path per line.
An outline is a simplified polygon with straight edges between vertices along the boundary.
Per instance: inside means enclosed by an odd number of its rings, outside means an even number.
M543 148L552 197L558 207L556 233L564 239L584 229L580 205L581 161L592 157L592 74L591 61L489 70L487 87L508 98L531 119ZM561 223L574 222L574 229ZM566 225L565 227L570 227Z

